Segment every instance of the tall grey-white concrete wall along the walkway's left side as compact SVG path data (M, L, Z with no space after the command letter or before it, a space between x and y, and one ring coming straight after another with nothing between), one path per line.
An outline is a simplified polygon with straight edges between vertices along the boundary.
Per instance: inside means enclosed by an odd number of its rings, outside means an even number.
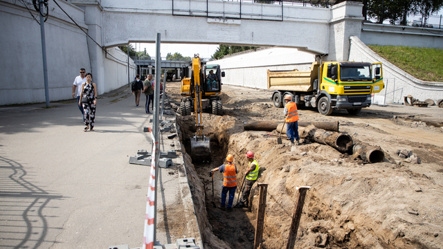
M32 3L29 0L26 2ZM89 26L84 23L84 10L65 1L57 3L84 30L89 30ZM32 5L28 8L39 19L38 13L31 7ZM66 100L72 98L72 84L74 78L80 75L80 68L91 72L91 57L84 32L52 1L49 1L49 10L49 18L44 24L49 100ZM3 72L0 80L0 105L45 102L39 24L32 19L21 1L0 0L0 13L0 67ZM101 51L100 48L99 50ZM122 61L127 61L124 53L119 57ZM99 85L99 93L127 84L127 66L114 62L114 59L105 58L102 62L107 65L102 69L107 80L102 80L106 84ZM132 60L131 63L134 68ZM130 73L130 78L133 79L134 70ZM95 73L93 76L96 79Z

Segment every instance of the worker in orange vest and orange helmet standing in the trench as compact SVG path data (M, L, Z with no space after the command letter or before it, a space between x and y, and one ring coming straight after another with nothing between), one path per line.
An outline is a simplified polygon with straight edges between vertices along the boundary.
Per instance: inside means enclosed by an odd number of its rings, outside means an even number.
M234 156L228 154L226 156L227 163L221 165L220 167L216 167L215 169L210 171L210 176L214 174L217 170L223 173L223 188L221 189L221 205L219 208L221 210L226 210L230 212L233 210L233 202L235 196L235 190L237 189L237 167L233 165ZM229 201L228 208L225 208L226 203L226 193L229 191Z

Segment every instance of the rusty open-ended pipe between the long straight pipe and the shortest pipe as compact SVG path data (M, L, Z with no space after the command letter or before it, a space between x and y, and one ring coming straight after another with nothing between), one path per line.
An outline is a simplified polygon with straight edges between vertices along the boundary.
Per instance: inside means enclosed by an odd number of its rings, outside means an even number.
M351 136L344 133L317 129L314 127L314 125L309 125L303 129L298 129L298 133L300 138L305 138L311 140L312 142L318 142L323 145L329 145L341 153L345 153L352 148Z

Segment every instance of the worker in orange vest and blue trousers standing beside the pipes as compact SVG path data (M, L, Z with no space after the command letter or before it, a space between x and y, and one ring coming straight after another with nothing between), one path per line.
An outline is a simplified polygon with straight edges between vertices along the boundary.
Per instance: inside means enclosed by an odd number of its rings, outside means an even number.
M300 145L300 137L298 136L298 111L297 104L292 102L292 96L287 94L284 96L284 117L286 117L286 135L291 145ZM296 142L294 143L294 138Z

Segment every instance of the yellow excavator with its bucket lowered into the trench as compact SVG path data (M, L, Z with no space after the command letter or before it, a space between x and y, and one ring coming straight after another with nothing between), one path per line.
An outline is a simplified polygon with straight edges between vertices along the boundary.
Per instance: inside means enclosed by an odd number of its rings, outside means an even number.
M214 76L206 77L210 71L213 71L211 76L215 74L216 78ZM191 158L193 161L210 160L210 137L203 134L204 125L201 113L204 110L212 109L213 114L222 114L223 107L219 96L221 91L220 76L224 77L224 72L220 71L219 65L202 66L199 54L196 54L192 58L191 77L183 77L181 80L183 98L181 98L178 112L182 116L190 115L191 110L195 113L197 132L191 138Z

